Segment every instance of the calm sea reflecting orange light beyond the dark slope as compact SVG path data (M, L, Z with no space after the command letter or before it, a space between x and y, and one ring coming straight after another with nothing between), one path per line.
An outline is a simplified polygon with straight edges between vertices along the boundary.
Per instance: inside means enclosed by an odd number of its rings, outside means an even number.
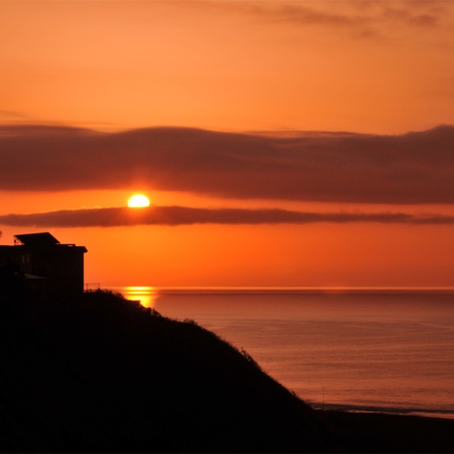
M454 418L454 291L111 288L244 348L315 408Z

